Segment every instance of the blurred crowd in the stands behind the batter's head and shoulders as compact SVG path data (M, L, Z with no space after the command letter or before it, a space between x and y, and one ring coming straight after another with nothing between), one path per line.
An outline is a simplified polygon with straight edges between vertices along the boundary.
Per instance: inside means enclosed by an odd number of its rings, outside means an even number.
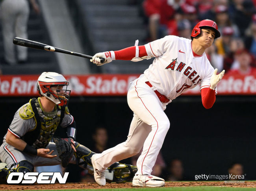
M144 0L147 41L166 35L189 38L204 19L214 20L221 32L206 55L218 71L256 74L256 0Z

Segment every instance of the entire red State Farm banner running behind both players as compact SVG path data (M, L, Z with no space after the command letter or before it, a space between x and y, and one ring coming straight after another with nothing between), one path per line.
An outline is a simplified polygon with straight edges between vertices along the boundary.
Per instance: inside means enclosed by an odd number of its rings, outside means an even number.
M39 75L0 76L0 96L38 96ZM65 75L71 87L71 96L125 96L135 75ZM218 95L256 95L255 75L224 75L217 86ZM199 95L200 87L182 95Z

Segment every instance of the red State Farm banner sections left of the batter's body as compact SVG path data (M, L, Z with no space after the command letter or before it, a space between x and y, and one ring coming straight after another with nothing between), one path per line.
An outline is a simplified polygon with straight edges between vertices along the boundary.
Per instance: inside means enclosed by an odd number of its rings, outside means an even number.
M139 75L64 75L71 96L122 96ZM39 75L0 76L0 96L38 96Z

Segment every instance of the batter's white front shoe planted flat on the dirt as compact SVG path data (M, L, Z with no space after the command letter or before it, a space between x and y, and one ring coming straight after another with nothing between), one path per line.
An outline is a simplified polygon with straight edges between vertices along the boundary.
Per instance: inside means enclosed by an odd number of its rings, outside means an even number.
M160 187L165 186L165 180L153 175L135 175L132 186Z

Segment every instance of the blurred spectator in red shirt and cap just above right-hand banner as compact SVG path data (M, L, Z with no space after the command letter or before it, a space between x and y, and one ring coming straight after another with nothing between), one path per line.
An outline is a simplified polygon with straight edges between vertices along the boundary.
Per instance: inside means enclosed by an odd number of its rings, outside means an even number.
M252 56L247 49L238 49L234 55L235 61L232 69L228 72L230 75L256 75L256 68L252 67Z

